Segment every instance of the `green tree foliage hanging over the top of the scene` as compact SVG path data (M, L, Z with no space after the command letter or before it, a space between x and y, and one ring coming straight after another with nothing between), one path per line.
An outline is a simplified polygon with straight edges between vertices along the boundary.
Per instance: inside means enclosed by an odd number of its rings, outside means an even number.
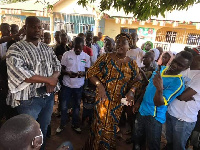
M79 0L83 7L98 0ZM148 20L151 16L164 16L165 11L183 10L199 3L200 0L101 0L100 11L109 10L111 7L123 9L126 14L133 13L139 20Z

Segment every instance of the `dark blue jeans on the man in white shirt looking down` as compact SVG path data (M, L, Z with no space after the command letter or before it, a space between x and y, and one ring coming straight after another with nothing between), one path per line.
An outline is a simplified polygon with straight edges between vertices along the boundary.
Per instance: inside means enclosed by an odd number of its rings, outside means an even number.
M67 122L67 110L70 100L73 96L73 116L72 116L72 125L75 127L80 126L80 104L82 97L83 87L80 88L69 88L67 86L62 87L61 96L61 123L60 126L63 127Z

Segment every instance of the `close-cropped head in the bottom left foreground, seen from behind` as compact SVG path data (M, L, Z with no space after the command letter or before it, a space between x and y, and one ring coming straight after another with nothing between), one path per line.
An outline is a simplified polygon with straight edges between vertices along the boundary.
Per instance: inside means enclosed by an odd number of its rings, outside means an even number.
M38 122L29 115L7 120L0 129L0 147L5 150L28 150L34 137L40 135Z

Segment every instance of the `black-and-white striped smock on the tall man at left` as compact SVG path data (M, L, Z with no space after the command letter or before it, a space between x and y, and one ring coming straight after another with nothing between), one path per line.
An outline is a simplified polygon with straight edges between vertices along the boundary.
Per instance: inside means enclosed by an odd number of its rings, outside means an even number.
M54 71L61 71L61 65L52 48L39 42L19 41L13 44L6 54L9 94L7 104L19 105L19 100L38 97L37 88L45 83L27 83L24 80L34 75L49 77ZM59 90L59 85L55 91Z

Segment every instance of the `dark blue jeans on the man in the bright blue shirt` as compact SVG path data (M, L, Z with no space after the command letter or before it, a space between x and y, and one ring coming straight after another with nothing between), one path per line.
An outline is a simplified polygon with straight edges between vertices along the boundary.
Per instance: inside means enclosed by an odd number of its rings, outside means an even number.
M133 131L134 146L141 145L147 140L149 150L160 150L162 124L153 116L142 116L138 113ZM137 150L140 148L134 147Z

